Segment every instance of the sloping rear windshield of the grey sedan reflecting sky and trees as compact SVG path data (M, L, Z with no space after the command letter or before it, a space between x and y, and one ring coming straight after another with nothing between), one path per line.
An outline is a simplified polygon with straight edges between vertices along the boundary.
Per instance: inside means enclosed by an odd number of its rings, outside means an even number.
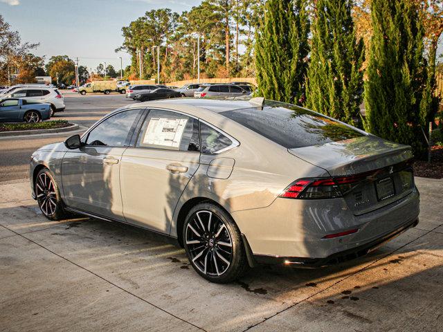
M336 120L290 104L275 103L263 109L238 109L220 114L287 149L363 136L360 131Z

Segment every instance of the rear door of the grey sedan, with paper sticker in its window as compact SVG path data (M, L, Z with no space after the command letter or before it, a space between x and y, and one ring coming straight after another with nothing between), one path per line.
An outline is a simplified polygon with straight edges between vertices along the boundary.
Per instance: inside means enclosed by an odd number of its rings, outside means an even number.
M198 120L152 109L134 146L123 153L120 179L128 223L169 234L181 193L199 167Z

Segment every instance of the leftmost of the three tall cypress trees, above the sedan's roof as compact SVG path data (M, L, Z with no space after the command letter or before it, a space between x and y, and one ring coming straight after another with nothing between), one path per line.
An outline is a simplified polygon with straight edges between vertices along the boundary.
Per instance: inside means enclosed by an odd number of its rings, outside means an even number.
M258 90L267 99L297 102L303 93L309 18L306 0L268 0L255 36Z

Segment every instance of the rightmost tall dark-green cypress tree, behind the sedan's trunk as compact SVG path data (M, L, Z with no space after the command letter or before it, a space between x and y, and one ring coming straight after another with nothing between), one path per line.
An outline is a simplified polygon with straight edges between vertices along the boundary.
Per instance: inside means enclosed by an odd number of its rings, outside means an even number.
M373 35L365 82L365 129L387 140L426 151L428 107L424 28L414 1L372 0Z

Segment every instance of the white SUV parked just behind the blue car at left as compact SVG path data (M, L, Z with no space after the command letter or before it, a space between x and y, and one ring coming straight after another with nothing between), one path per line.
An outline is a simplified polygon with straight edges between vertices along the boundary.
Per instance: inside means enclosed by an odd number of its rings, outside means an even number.
M27 86L24 88L15 89L12 91L12 93L6 95L5 98L24 98L26 100L51 104L51 116L53 116L55 112L64 111L66 108L64 106L63 95L54 88Z

